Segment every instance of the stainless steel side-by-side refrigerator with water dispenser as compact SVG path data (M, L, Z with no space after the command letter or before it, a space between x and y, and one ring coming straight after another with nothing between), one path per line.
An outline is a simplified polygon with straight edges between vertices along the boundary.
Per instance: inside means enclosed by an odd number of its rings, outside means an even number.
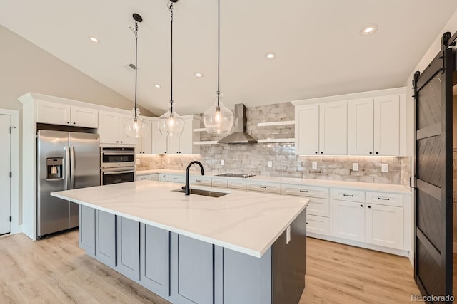
M78 226L78 204L51 192L99 186L99 135L39 130L37 139L36 235Z

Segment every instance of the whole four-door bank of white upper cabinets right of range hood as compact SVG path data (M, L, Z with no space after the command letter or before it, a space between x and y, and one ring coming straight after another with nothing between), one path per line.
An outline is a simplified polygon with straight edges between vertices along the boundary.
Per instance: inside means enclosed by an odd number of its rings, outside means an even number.
M406 88L292 103L298 155L406 154Z

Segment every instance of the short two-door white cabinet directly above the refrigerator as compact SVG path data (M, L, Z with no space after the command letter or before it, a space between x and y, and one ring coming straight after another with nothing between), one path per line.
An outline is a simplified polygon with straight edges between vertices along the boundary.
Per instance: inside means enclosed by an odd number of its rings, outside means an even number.
M71 125L74 127L98 126L98 111L62 103L39 100L36 122L51 125Z

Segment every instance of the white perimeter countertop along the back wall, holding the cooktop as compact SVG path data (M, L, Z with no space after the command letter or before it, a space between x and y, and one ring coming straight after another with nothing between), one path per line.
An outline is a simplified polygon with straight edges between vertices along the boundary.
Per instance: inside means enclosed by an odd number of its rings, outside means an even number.
M167 169L155 169L155 170L143 170L137 171L137 175L144 174L186 174L185 171L181 170L167 170ZM189 174L200 175L198 171L190 171ZM205 173L205 176L216 177L218 172ZM219 177L218 177L219 178ZM240 179L239 177L221 177L226 179ZM366 191L377 191L377 192L392 192L401 194L411 194L411 189L402 184L380 184L380 183L369 183L369 182L348 182L338 181L331 179L301 179L296 177L264 177L255 176L248 177L246 181L256 182L276 182L280 184L303 184L309 186L328 187L328 188L344 188L344 189L360 189Z

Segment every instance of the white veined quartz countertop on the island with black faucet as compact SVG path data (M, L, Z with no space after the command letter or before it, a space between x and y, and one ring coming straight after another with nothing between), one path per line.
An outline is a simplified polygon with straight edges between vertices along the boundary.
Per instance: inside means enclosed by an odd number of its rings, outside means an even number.
M309 201L231 189L217 189L229 193L219 198L171 191L179 188L175 183L138 181L52 192L51 196L258 258Z

